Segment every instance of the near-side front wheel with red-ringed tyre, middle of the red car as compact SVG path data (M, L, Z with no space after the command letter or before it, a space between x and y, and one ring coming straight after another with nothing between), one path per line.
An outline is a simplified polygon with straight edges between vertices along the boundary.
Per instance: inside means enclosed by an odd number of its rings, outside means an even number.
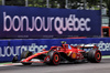
M51 64L51 65L58 65L59 64L61 55L58 52L50 51L47 56L50 56L50 62L47 62L47 64Z

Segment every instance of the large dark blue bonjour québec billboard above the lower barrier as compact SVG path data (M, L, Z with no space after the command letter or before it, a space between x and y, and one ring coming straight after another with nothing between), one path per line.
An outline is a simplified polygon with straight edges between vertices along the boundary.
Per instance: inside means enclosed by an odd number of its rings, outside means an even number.
M76 35L101 35L99 10L0 6L0 38Z

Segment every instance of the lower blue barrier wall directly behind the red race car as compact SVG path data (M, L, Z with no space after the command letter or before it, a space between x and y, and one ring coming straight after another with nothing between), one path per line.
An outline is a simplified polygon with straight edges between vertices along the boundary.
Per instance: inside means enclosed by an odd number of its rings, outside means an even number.
M33 53L41 52L42 49L50 50L53 45L61 45L61 41L68 44L97 44L102 55L110 55L110 39L35 39L35 40L0 40L0 62L12 61L14 55L29 50Z

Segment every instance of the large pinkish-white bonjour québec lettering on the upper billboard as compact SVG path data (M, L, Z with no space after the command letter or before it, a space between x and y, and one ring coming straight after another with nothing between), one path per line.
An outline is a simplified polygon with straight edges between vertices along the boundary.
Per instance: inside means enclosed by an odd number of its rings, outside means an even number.
M10 21L8 23L8 20ZM18 28L15 25L18 21ZM26 29L24 29L24 21ZM69 14L69 18L61 17L32 17L32 21L29 20L26 15L19 17L7 15L7 12L3 12L3 31L57 31L58 34L63 34L64 31L90 31L91 28L88 25L91 20L89 18L77 18L75 14ZM29 24L32 22L32 24ZM54 23L54 24L53 24ZM47 25L46 25L47 24ZM65 25L65 27L64 27ZM54 27L54 29L53 29Z

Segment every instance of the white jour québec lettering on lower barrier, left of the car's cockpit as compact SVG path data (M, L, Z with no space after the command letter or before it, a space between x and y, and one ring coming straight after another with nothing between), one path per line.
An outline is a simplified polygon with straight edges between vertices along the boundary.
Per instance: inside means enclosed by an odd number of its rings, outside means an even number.
M3 46L3 49L0 46L0 56L20 55L20 53L28 50L36 53L46 48L47 45L36 45L35 43L32 43L31 45Z

